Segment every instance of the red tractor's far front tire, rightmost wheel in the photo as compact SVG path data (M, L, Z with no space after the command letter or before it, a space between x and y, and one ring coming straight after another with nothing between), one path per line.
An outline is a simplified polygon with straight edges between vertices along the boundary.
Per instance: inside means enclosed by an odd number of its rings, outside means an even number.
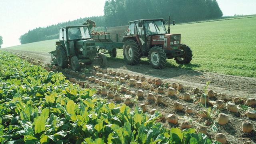
M187 45L182 45L181 48L182 48L182 51L184 52L184 55L181 57L177 56L174 58L174 60L178 64L189 64L193 56L192 50L190 50L190 47Z

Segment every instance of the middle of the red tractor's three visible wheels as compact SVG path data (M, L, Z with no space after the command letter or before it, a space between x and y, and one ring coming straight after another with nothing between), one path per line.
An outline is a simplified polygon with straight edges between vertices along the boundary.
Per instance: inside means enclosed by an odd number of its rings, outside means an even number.
M149 51L148 60L153 68L163 69L167 63L166 52L159 46L154 46Z

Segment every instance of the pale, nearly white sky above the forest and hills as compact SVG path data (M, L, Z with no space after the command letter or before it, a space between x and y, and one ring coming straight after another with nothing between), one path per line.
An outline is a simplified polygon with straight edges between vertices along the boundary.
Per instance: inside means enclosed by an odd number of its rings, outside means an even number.
M256 14L256 0L217 0L224 16ZM105 0L0 0L2 47L37 27L104 14ZM68 9L68 10L67 10Z

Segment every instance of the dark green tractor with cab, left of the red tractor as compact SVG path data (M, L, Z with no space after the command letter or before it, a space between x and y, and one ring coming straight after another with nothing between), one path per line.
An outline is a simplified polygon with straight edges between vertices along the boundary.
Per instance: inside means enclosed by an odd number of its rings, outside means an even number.
M49 52L52 55L52 64L62 68L70 65L74 71L80 70L79 62L90 65L93 60L98 60L100 67L106 66L106 56L97 52L88 26L66 26L60 28L59 32L56 50Z

